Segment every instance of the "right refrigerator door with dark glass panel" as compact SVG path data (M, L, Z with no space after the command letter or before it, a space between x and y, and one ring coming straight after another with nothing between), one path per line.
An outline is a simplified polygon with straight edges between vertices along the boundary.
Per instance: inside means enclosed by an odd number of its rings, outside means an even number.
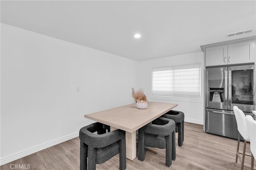
M255 65L228 67L228 109L255 110Z

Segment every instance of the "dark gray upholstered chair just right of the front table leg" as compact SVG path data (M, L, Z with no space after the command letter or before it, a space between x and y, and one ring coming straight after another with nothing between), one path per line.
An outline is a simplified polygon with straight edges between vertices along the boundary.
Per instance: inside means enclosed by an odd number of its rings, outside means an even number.
M138 160L144 161L145 147L166 149L166 166L176 159L175 122L159 117L138 131Z

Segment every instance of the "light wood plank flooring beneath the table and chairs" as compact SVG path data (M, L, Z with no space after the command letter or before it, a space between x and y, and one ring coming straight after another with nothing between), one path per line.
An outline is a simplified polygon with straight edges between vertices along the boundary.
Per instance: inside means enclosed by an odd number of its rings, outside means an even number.
M135 158L127 159L127 170L240 170L240 162L235 163L237 140L205 133L202 125L185 122L184 143L178 147L176 141L176 160L168 168L165 166L165 149L150 148L143 162ZM176 140L178 133L176 133ZM240 143L242 152L243 143ZM30 170L79 170L80 140L78 137L41 150L24 158L0 166L10 170L11 164L30 166ZM250 154L250 144L246 152ZM245 156L244 170L250 170L250 157ZM28 167L28 166L27 166ZM98 170L118 170L119 155L103 164ZM254 160L256 169L256 160Z

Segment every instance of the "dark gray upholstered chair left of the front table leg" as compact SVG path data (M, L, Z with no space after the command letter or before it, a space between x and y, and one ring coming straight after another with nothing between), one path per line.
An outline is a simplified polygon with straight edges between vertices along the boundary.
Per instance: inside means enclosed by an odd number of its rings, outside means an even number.
M102 164L118 153L119 168L126 169L125 131L118 129L106 133L104 124L96 122L82 127L79 138L80 170L86 170L87 165L89 170L95 170L96 164Z

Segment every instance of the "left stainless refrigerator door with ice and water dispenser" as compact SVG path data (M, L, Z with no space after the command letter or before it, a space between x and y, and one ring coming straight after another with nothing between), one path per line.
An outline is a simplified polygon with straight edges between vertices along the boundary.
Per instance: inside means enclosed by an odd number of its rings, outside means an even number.
M206 67L206 107L228 109L228 67Z

